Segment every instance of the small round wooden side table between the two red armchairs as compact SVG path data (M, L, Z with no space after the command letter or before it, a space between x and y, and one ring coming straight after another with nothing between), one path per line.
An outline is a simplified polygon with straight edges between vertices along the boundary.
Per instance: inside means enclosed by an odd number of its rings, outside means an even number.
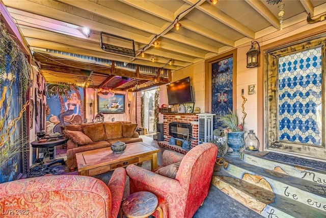
M158 204L157 197L148 191L132 193L122 203L122 210L128 218L145 218L155 212ZM160 217L163 217L162 210L157 208Z

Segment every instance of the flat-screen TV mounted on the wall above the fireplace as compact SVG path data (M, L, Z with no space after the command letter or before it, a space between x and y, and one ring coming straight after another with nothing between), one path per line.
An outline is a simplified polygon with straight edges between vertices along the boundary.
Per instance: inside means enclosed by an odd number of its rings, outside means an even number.
M193 87L190 77L167 85L169 105L194 102Z

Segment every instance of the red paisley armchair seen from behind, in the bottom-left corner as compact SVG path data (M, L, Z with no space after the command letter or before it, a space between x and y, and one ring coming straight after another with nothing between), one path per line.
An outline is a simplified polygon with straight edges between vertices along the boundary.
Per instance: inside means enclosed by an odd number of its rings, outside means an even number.
M62 175L0 184L1 217L114 217L126 182L116 168L110 182L88 176Z

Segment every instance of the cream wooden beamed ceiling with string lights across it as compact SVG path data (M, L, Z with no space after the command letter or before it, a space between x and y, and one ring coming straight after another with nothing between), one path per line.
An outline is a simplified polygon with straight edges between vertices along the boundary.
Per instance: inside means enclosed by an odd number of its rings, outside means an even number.
M293 31L304 27L308 13L312 18L326 14L326 1L282 0L285 6L281 28L281 3L273 5L266 0L220 0L216 5L209 0L2 1L34 52L34 59L47 81L56 82L58 75L61 78L57 82L92 83L97 87L121 84L117 89L132 87L134 84L130 83L137 80L148 81L142 84L144 87L168 83L166 75L159 75L161 68L168 69L171 75L175 70L235 47L248 47L249 50L251 41L260 43L262 37L268 38L270 34L285 34L281 29ZM177 18L182 24L178 31L174 28ZM83 27L91 29L90 37L82 33ZM103 51L101 32L134 40L135 57ZM154 41L159 43L157 47L152 44ZM109 39L109 42L127 47L127 42L119 38ZM117 64L108 65L58 52L155 67L156 70L144 74ZM112 76L115 77L108 80ZM124 83L118 77L130 80Z

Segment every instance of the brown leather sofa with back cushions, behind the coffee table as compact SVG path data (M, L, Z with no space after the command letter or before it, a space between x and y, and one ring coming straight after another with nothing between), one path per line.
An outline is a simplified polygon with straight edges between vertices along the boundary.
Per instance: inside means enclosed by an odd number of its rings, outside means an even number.
M67 166L77 167L76 153L105 147L114 142L133 143L143 141L136 132L137 124L127 122L104 122L95 124L76 124L65 127L63 133L67 141Z

